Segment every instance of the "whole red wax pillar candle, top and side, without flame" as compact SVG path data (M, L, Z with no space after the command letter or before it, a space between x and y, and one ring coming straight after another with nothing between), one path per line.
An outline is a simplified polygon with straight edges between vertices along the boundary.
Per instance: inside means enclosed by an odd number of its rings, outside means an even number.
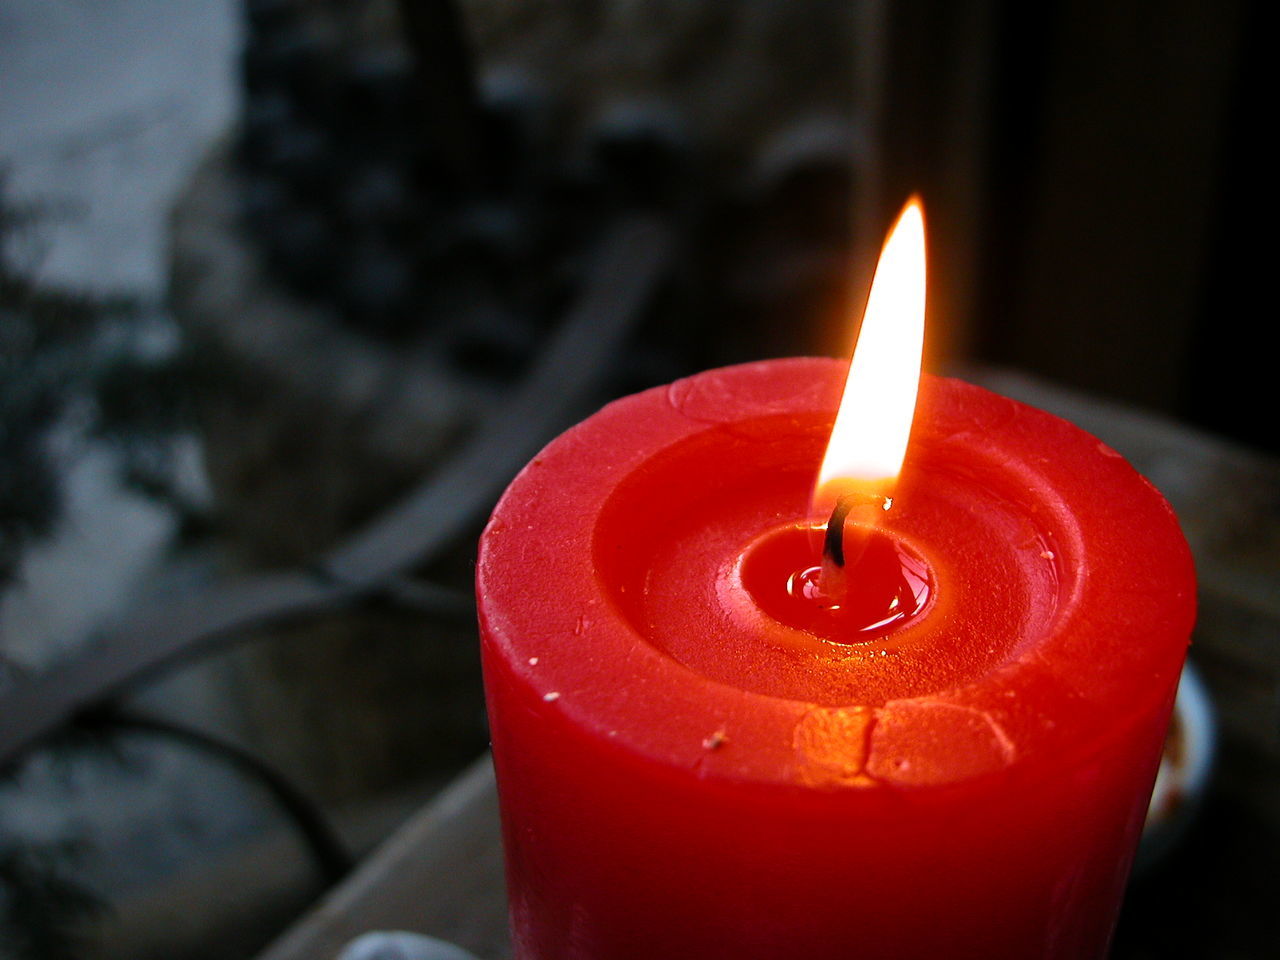
M618 401L498 504L520 960L1105 956L1194 616L1178 524L1088 434L925 376L882 530L927 607L870 639L781 622L759 543L808 520L846 369Z

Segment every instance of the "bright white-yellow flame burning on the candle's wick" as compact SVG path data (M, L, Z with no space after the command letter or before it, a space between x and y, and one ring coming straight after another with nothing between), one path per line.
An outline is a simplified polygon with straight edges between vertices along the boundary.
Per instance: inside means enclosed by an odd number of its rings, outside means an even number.
M884 241L840 412L814 486L814 516L842 497L887 509L915 415L924 347L924 214L913 197Z

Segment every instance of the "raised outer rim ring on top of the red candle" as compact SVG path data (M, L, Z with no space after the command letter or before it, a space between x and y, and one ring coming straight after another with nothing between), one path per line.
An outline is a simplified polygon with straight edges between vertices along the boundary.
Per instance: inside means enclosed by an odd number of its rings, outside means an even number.
M1192 582L1192 561L1169 504L1083 430L929 375L918 424L927 417L938 436L979 447L998 434L1011 477L1089 492L1052 507L1062 512L1060 527L1079 531L1092 566L1041 645L1051 657L928 696L818 707L710 681L637 636L591 586L595 524L614 484L671 444L723 429L727 408L742 420L833 415L846 370L841 361L795 358L708 371L611 403L521 471L481 538L476 582L486 660L509 671L530 709L704 777L860 787L982 776L1050 745L1089 749L1091 737L1105 735L1091 730L1091 717L1115 724L1167 699L1194 618L1193 591L1170 586ZM598 467L584 468L584 457ZM1142 573L1151 570L1167 576L1152 582ZM645 722L632 722L637 716ZM932 744L936 762L902 763L902 745L916 741Z

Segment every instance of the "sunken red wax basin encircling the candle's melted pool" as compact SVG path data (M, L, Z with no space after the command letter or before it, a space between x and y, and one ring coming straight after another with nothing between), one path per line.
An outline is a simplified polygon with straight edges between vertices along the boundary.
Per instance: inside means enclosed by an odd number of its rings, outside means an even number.
M742 566L762 541L800 531L829 430L828 416L812 413L712 426L664 447L611 490L593 524L594 566L602 594L637 636L728 686L882 707L986 677L1046 632L1075 588L1078 536L1060 522L1068 512L1052 489L986 451L947 463L945 440L932 436L913 444L878 538L936 575L928 616L844 643L849 625L814 620L813 608L800 627L755 603ZM806 539L786 538L791 573L818 558L817 543L812 554L795 550Z

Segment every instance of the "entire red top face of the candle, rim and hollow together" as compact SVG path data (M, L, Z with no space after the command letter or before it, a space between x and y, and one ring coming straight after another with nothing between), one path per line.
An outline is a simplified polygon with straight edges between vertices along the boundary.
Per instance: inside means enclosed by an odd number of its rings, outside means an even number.
M1169 506L1089 434L956 380L923 378L878 525L910 616L854 630L771 599L820 541L809 497L846 369L655 388L521 472L477 590L539 709L707 777L865 788L1088 749L1149 705L1194 616Z

